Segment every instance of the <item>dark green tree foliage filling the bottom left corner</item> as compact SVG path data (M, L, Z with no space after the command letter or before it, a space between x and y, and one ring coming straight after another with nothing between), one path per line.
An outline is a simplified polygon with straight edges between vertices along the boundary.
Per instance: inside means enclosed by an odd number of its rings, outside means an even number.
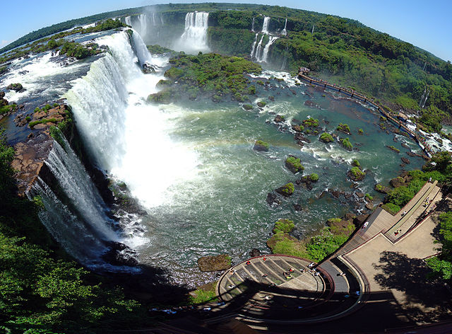
M5 333L80 333L81 328L108 333L143 322L145 309L121 289L54 251L57 246L37 216L42 199L16 195L13 157L1 129L1 328Z

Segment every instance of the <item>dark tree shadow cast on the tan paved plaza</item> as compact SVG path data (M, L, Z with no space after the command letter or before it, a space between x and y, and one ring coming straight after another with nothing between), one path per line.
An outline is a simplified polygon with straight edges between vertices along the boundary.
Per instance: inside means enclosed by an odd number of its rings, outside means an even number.
M414 321L439 321L451 307L449 294L439 281L427 280L432 272L424 260L409 258L398 252L381 253L376 270L383 273L374 276L374 280L383 288L396 289L405 294L403 308Z

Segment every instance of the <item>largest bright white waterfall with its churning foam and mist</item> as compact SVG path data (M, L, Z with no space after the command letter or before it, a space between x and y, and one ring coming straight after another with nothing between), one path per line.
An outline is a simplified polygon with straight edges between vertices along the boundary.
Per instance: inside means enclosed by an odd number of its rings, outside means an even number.
M171 200L167 188L189 178L196 168L193 149L169 137L173 114L184 110L167 107L165 113L146 103L148 94L157 92L155 85L163 73L141 72L126 33L96 42L108 45L112 55L93 63L88 75L67 94L78 127L101 168L123 180L143 205L161 205ZM136 50L140 47L135 45ZM150 54L147 58L160 65L168 60ZM107 89L100 89L104 86Z

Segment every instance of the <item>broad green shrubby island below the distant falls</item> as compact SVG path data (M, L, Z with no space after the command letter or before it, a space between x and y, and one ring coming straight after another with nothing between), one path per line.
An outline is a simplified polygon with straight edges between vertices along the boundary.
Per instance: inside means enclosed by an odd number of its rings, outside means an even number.
M224 100L227 96L239 102L247 100L249 95L255 93L254 86L250 86L249 79L246 79L244 73L261 73L259 65L249 62L239 57L226 57L220 54L198 54L197 56L188 56L179 54L169 60L172 68L165 72L165 77L172 81L178 81L176 87L168 87L163 92L170 98L175 94L173 92L182 92L192 94L191 98L196 98L199 94L210 96L215 101ZM150 95L161 96L163 93ZM166 96L165 96L166 97ZM157 101L158 102L158 101Z

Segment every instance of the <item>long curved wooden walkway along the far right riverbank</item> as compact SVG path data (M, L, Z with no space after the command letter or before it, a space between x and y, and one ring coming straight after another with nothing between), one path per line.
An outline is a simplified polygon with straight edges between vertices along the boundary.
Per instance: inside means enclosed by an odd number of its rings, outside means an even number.
M391 115L390 113L388 113L379 103L374 102L373 99L367 98L367 96L364 96L362 93L357 93L356 91L352 91L352 90L347 89L347 88L343 88L343 87L340 87L340 86L337 86L337 85L334 85L334 84L329 84L328 82L323 81L323 80L313 79L313 78L311 78L309 76L306 76L306 75L302 74L302 72L299 72L298 76L299 76L299 78L301 78L301 79L303 79L305 81L309 81L309 84L316 84L317 86L322 86L323 88L333 89L334 91L338 91L339 93L343 93L343 94L345 94L347 96L350 96L350 98L355 98L355 100L359 100L359 101L361 101L363 103L367 103L368 105L371 105L376 110L379 110L379 112L382 115L384 115L386 118L388 118L388 120L391 120L392 122L396 123L396 125L398 125L399 129L403 129L405 132L410 134L410 136L415 140L415 142L417 142L417 144L419 144L421 149L428 156L432 156L434 154L434 151L427 144L427 142L426 142L424 137L422 137L417 132L412 131L412 129L408 128L403 122L398 120L396 118L396 116Z

